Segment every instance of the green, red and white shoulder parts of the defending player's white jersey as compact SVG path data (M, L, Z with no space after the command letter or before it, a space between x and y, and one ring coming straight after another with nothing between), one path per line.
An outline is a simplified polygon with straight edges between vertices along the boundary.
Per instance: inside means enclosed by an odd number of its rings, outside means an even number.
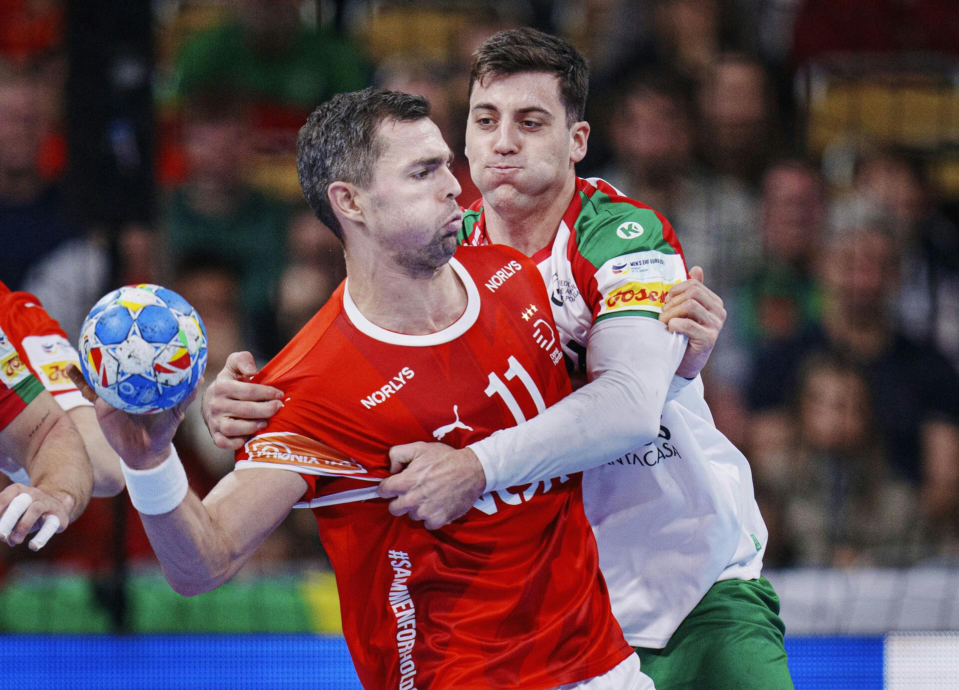
M459 242L488 242L482 199L464 212ZM576 178L555 242L567 243L573 281L597 321L613 315L657 318L669 289L689 277L669 221L596 177ZM545 261L551 250L545 247L533 261Z

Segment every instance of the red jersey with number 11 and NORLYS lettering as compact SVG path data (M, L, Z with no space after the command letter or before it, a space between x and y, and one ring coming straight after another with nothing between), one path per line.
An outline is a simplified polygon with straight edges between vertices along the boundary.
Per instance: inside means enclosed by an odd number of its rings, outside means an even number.
M578 473L484 495L435 531L376 497L390 447L463 448L570 392L536 266L504 246L461 247L451 265L467 308L435 334L380 329L340 286L255 379L287 399L238 468L307 480L300 505L314 508L364 687L535 690L599 676L632 650Z

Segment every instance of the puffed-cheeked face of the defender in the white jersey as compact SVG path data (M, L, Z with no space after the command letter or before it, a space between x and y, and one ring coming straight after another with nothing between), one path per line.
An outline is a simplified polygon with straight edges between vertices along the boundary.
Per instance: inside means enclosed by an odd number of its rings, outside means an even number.
M466 157L483 199L529 205L561 186L585 154L566 123L559 81L523 72L473 84L466 124Z

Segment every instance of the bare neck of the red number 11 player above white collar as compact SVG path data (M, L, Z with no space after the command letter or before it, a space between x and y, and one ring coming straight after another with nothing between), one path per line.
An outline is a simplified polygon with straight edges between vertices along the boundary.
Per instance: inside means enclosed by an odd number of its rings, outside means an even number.
M412 272L384 254L346 249L350 297L372 323L394 333L427 335L466 311L466 288L452 265Z

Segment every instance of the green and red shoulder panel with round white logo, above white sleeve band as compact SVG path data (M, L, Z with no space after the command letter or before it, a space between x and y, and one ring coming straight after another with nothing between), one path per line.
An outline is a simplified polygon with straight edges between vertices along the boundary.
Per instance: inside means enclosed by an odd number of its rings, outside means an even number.
M577 190L581 208L571 228L573 241L592 265L640 251L682 255L672 226L655 209L597 177L578 180Z

